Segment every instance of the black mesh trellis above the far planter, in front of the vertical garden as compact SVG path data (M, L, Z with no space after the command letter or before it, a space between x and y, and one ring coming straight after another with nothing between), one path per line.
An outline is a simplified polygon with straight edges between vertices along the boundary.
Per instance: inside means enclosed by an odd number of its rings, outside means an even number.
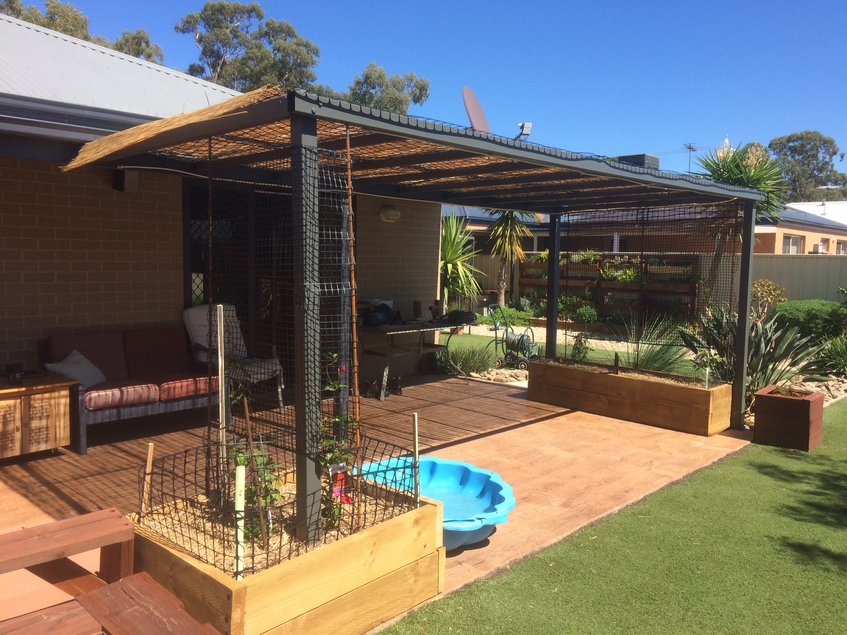
M738 202L564 214L556 361L670 383L725 381L710 377L680 329L702 331L714 311L736 311L742 219ZM543 314L548 264L530 256L521 268L523 306Z

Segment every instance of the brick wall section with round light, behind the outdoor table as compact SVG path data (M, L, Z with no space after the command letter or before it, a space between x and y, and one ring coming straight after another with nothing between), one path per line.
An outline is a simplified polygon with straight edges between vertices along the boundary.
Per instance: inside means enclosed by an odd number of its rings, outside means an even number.
M386 223L379 218L384 206L399 210L400 220ZM404 318L412 317L412 303L419 300L422 317L432 317L426 307L438 296L440 204L360 195L356 213L357 300L394 301L395 310ZM398 336L396 342L406 340L417 341L417 335ZM360 341L363 346L385 346L383 335L363 334ZM360 357L360 377L381 377L382 364L377 357ZM417 356L398 359L392 364L391 375L416 373L417 365Z

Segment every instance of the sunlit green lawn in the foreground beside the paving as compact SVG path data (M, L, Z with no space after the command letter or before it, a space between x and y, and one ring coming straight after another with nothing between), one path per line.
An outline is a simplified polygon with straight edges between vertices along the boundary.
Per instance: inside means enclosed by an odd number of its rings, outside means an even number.
M750 444L384 632L847 633L847 400L823 419L809 453Z

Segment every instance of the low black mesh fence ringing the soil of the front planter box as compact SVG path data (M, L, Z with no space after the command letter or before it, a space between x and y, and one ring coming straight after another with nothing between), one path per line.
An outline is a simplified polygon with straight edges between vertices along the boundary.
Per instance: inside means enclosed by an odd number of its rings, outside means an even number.
M144 527L235 577L263 571L310 549L384 522L415 507L412 452L361 434L346 447L346 471L324 466L321 532L308 547L296 538L295 455L254 435L228 435L162 456L138 472ZM235 467L246 467L245 508L235 511ZM365 466L364 472L362 467ZM363 478L357 475L363 474ZM147 494L145 494L147 492ZM235 526L243 519L243 541Z

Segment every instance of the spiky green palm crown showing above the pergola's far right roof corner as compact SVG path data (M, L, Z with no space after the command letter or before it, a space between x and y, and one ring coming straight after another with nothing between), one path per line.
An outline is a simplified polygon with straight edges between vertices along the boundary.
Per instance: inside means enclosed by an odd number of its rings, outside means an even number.
M779 220L786 190L783 168L761 143L748 143L736 150L725 140L717 152L696 157L695 161L703 168L695 176L761 191L767 198L756 206L756 220Z

